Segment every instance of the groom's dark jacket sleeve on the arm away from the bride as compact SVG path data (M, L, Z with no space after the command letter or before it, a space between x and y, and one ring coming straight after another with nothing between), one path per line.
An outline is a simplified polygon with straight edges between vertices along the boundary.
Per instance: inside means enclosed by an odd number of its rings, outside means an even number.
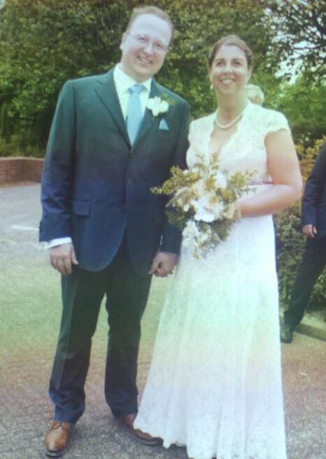
M40 241L71 236L70 203L76 143L73 82L59 94L45 154L41 185Z

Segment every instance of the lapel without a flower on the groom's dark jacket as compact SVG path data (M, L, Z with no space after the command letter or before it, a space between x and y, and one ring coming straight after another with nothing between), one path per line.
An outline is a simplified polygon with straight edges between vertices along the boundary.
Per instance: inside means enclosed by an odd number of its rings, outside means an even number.
M99 99L105 106L106 110L110 113L111 117L115 121L115 124L118 126L122 137L125 139L129 147L131 147L125 119L123 119L118 94L115 89L113 70L109 71L106 75L104 75L104 77L100 77L97 80L95 92L99 96Z

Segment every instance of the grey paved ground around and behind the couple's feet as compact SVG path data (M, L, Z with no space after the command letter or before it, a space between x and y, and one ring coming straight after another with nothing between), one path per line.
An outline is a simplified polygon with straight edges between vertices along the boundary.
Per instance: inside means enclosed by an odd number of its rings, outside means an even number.
M52 418L48 379L61 303L59 274L37 242L39 188L39 184L0 188L1 459L43 458L43 438ZM143 317L140 391L168 282L154 280ZM305 334L295 333L292 344L282 345L288 459L326 459L326 324L308 321L300 331ZM107 333L101 308L87 377L87 407L64 458L186 458L185 449L177 446L165 450L138 444L111 416L104 399Z

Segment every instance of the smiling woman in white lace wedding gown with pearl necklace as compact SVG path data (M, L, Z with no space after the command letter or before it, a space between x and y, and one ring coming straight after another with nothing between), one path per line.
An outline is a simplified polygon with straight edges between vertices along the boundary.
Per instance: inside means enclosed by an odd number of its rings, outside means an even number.
M192 122L187 164L218 152L255 184L225 242L202 258L182 246L134 423L192 459L286 459L271 214L299 199L302 179L285 117L246 98L251 66L236 36L209 58L218 110Z

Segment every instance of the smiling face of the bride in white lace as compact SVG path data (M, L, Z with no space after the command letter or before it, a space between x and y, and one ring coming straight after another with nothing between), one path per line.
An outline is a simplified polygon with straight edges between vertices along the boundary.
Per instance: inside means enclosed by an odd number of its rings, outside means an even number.
M223 45L215 54L209 78L220 95L242 92L251 75L246 54L235 45Z

